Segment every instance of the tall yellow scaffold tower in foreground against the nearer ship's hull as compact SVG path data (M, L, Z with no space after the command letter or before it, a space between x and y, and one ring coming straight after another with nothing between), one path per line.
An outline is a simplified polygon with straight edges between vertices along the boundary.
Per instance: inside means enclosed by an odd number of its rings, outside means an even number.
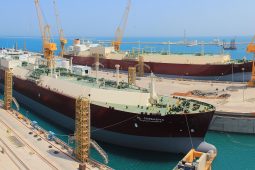
M90 102L85 97L76 100L75 156L82 163L89 160L90 148Z

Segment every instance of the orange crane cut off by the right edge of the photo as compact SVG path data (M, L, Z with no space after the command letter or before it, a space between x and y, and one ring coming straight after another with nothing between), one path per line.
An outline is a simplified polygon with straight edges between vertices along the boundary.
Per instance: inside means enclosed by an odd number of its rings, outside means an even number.
M252 71L251 71L251 80L248 81L248 87L255 87L255 36L252 38L252 41L248 44L246 51L248 53L253 53L252 61Z

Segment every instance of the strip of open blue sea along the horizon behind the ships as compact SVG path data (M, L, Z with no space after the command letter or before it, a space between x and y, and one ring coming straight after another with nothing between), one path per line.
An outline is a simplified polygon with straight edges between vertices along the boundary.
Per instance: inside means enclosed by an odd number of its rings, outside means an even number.
M68 37L68 43L66 46L72 45L73 39L77 37ZM80 38L80 37L78 37ZM218 37L217 37L218 38ZM220 40L225 41L229 43L232 39L235 39L236 42L250 42L252 37L219 37ZM98 41L111 41L112 37L84 37L82 39L90 40L93 42ZM215 37L189 37L187 38L187 41L193 41L197 40L198 42L212 42ZM59 42L57 38L53 39L54 42L58 44L59 48ZM129 37L124 38L123 42L136 42L137 44L122 44L121 49L122 50L132 50L132 49L144 49L147 51L152 52L168 52L169 46L168 45L146 45L142 44L142 42L180 42L183 41L182 37ZM13 48L15 47L15 44L18 44L18 48L24 47L24 42L26 44L26 48L29 51L36 51L39 52L42 49L42 41L40 37L0 37L0 48L6 47L6 48ZM139 44L141 42L141 44ZM237 50L231 50L231 51L224 51L226 54L230 54L233 59L243 59L243 57L246 57L247 59L251 59L252 55L246 53L246 46L247 44L241 44L237 46ZM200 53L202 50L201 46L193 46L193 47L187 47L187 46L181 46L181 45L171 45L170 46L170 52L171 53ZM215 45L206 45L204 46L205 53L213 53L213 54L219 54L222 52L222 47L215 46Z

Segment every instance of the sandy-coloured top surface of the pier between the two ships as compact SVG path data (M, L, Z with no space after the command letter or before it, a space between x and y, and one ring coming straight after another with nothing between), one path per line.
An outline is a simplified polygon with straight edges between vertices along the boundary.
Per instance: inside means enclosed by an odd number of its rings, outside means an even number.
M114 71L100 71L99 76L116 79ZM127 81L127 74L122 73L121 79ZM147 88L149 82L150 77L142 77L136 81L136 85ZM159 95L175 95L210 103L216 107L217 112L255 113L255 88L246 87L246 83L158 77L155 85ZM204 96L192 94L192 92L204 93Z

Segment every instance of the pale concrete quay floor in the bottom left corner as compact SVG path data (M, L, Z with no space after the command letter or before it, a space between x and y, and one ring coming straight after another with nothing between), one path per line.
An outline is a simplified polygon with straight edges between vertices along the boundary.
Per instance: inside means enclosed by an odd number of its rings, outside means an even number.
M0 169L79 168L79 161L68 155L66 148L48 141L32 129L30 124L19 119L16 113L0 108ZM90 162L86 166L93 170L108 169L97 162Z

